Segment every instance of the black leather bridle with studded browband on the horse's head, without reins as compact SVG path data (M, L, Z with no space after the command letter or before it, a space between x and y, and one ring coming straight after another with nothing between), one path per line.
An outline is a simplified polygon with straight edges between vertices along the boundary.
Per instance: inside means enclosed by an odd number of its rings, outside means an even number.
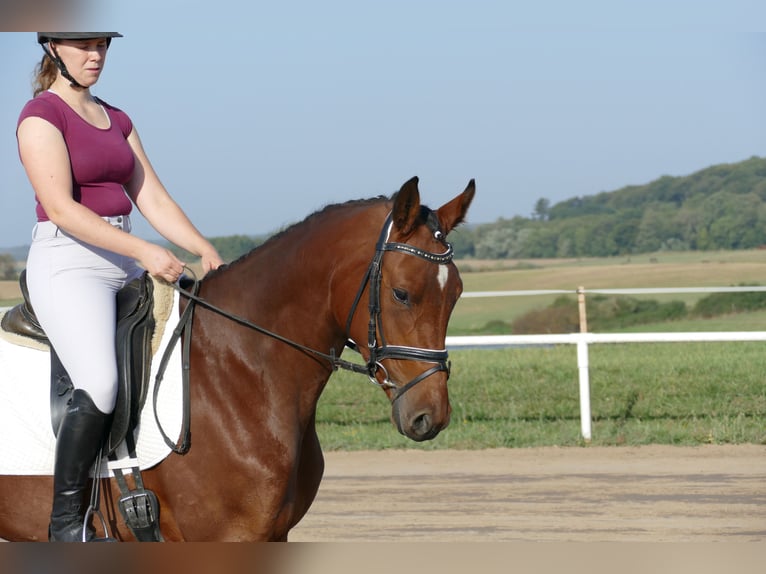
M356 313L359 300L362 297L362 293L364 292L365 287L369 284L370 321L367 331L367 351L369 353L369 357L367 359L366 371L371 383L393 390L393 398L391 399L392 403L399 399L412 387L424 379L430 377L434 373L444 371L447 373L447 377L449 377L450 373L450 364L448 361L449 355L446 349L437 350L423 349L419 347L405 347L401 345L389 345L386 342L386 337L383 332L383 319L380 312L380 281L383 271L383 254L386 251L398 251L407 255L420 257L421 259L425 259L426 261L435 263L437 265L446 265L452 261L452 245L445 240L444 234L439 229L438 220L433 215L433 212L429 213L427 223L434 235L434 238L446 247L446 250L443 253L432 253L407 243L390 242L389 237L391 236L391 229L393 227L393 218L389 213L385 223L383 224L383 229L380 232L378 242L375 245L375 256L372 258L370 266L367 268L367 272L362 279L362 284L359 286L359 290L357 291L356 297L354 298L354 303L351 306L351 311L348 315L348 320L346 321L346 334L348 336L348 333L351 330L351 321L353 320L354 314ZM377 339L378 333L380 334L380 344L378 344ZM357 344L350 338L348 339L346 345L349 348L359 352ZM397 387L396 384L391 381L391 378L388 375L388 370L385 368L385 366L383 366L381 362L385 359L420 361L425 363L434 363L434 366L422 372L420 375L405 385ZM379 382L376 376L379 370L383 372L383 382Z

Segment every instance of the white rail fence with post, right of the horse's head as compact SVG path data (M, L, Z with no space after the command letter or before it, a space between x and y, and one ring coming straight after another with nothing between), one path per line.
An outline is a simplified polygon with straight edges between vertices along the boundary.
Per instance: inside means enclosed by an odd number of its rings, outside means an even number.
M580 428L583 439L590 442L590 370L588 345L593 343L684 343L720 341L766 341L766 331L723 331L694 333L588 333L585 316L585 295L647 295L659 293L744 293L766 291L766 287L680 287L647 289L585 289L541 290L541 291L474 291L463 293L462 297L512 297L528 295L577 294L580 303L580 333L563 335L476 335L447 337L448 349L465 347L497 347L514 345L577 345L577 370L580 383Z

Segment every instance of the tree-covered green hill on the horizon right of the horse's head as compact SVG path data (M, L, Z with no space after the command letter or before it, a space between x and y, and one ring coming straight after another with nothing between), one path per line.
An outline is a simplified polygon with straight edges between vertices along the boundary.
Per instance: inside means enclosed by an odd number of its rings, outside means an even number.
M752 157L685 177L661 177L550 206L530 217L463 227L458 257L608 257L766 245L766 159Z

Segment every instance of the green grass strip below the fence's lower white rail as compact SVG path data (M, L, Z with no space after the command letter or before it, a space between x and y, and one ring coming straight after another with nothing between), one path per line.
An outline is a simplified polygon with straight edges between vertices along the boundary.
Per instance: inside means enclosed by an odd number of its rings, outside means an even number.
M388 417L382 391L336 373L320 399L326 449L577 446L572 346L451 353L452 422L413 443ZM766 343L593 345L592 445L766 444Z

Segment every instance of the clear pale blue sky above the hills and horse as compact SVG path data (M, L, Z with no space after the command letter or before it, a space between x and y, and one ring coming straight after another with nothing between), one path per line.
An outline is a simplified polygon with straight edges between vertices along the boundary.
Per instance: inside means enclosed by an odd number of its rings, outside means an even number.
M472 223L766 156L766 3L105 0L93 92L208 236L263 234L413 175ZM0 246L29 242L18 113L41 50L0 33ZM154 238L139 221L136 233Z

